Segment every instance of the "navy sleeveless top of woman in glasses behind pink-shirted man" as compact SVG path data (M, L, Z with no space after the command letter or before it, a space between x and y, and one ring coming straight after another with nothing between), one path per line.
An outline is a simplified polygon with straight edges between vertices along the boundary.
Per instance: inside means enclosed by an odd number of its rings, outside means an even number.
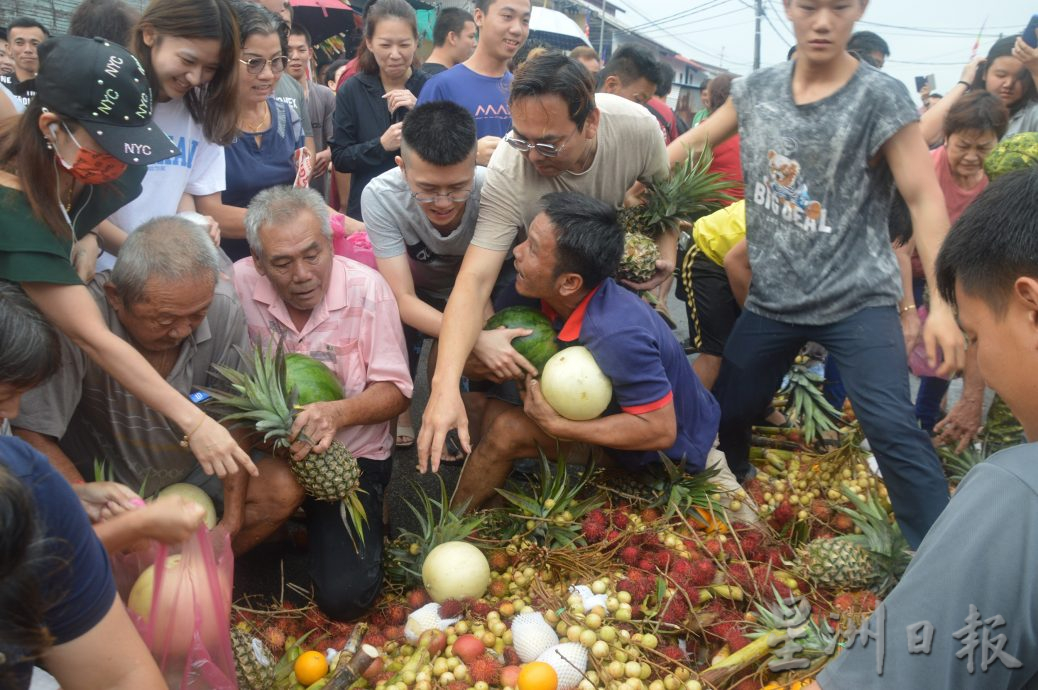
M229 146L224 147L227 162L227 188L222 199L228 206L245 209L252 197L270 187L292 185L296 181L296 161L293 158L297 149L305 143L303 126L299 116L283 103L267 99L270 108L271 126L265 132L257 132L260 145L255 136L242 133ZM249 246L245 240L220 241L230 260L237 261L249 255Z

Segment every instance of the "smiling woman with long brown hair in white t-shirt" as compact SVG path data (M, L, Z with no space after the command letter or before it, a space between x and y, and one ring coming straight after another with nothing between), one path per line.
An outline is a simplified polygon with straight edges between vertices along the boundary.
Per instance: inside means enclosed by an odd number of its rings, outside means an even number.
M149 165L144 189L99 228L117 250L141 223L194 211L224 237L245 237L245 210L225 206L223 146L238 133L238 30L227 0L152 0L134 29L131 50L152 83L154 119L181 149ZM98 269L111 268L106 253Z

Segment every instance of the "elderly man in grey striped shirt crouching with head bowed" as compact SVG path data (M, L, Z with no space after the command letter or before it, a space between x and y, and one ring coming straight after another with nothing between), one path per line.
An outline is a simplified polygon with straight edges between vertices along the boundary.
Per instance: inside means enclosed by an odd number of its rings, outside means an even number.
M114 268L87 287L108 328L180 393L223 385L215 364L242 367L237 349L248 347L245 315L234 286L219 280L213 242L194 223L148 221L122 245ZM25 394L11 424L71 484L92 478L93 463L104 461L118 482L144 495L180 481L198 486L222 513L220 526L239 552L243 540L254 544L254 535L267 536L296 509L299 491L284 463L256 462L260 476L251 481L244 472L208 476L169 420L60 340L60 369ZM118 510L118 502L109 505Z

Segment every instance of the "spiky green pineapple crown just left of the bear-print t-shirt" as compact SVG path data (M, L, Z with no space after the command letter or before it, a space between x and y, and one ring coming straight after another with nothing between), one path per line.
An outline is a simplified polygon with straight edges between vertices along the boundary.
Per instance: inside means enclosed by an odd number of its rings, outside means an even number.
M646 183L645 203L634 206L643 231L655 237L679 221L712 213L735 199L728 194L732 181L710 172L713 150L709 143L696 157L688 156L667 176Z

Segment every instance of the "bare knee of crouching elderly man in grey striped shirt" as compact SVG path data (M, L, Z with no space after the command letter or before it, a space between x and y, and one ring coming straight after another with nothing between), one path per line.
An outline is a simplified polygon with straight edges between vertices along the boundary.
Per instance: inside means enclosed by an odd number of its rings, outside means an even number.
M242 528L231 541L235 555L273 534L303 502L303 490L285 461L264 458L256 469L260 476L249 477Z

